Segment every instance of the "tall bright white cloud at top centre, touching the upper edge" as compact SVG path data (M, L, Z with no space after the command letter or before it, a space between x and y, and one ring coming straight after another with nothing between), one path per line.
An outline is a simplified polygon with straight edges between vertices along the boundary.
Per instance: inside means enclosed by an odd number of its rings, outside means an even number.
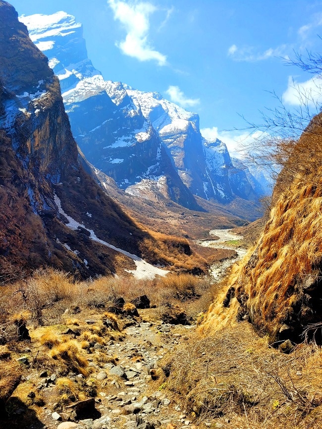
M120 21L126 30L125 40L116 44L123 54L140 61L155 60L159 65L166 64L166 55L153 49L149 44L149 16L157 10L149 2L107 0L114 19Z

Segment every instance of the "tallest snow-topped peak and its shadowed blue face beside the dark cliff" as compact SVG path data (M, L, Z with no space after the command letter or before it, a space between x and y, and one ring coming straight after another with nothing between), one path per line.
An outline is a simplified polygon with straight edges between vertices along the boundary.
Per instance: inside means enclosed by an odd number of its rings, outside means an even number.
M65 12L20 19L50 58L73 135L86 159L120 188L152 179L165 198L198 209L141 109L121 83L105 81L87 58L81 24Z

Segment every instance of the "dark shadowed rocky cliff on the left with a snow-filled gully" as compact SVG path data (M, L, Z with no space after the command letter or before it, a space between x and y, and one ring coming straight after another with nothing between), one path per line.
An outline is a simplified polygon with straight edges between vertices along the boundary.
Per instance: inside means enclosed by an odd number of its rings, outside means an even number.
M80 277L142 268L149 234L84 170L58 79L5 1L0 57L1 267L51 265Z

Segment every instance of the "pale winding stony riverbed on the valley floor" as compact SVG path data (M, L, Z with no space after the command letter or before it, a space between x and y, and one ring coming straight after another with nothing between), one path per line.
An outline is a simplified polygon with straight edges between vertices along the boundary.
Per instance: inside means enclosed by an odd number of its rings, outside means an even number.
M234 246L229 246L225 244L226 242L236 242L243 238L241 235L232 233L231 229L212 229L211 231L209 231L209 235L219 237L219 239L198 240L196 243L199 246L211 247L214 249L234 250L237 253L236 257L229 258L224 261L219 261L211 266L211 275L216 281L219 281L221 278L224 277L228 268L230 268L236 261L246 255L247 250L243 247L239 247L237 243L233 243Z

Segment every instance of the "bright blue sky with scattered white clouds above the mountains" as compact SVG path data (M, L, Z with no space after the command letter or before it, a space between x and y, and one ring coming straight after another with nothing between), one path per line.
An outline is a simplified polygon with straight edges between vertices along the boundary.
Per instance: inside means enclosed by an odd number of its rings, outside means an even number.
M9 2L19 15L74 15L105 79L160 92L199 113L203 135L218 136L228 148L249 139L247 121L262 123L261 112L278 105L272 92L292 109L299 104L294 87L316 88L312 75L286 62L321 51L322 1Z

